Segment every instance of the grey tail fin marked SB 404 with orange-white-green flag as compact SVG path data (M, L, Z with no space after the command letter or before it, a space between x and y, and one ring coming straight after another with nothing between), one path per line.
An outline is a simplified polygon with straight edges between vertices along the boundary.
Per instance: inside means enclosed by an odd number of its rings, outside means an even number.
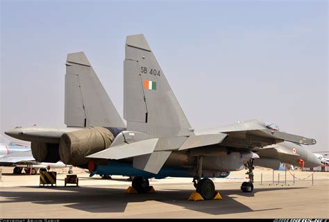
M144 35L126 37L124 119L153 137L194 135Z

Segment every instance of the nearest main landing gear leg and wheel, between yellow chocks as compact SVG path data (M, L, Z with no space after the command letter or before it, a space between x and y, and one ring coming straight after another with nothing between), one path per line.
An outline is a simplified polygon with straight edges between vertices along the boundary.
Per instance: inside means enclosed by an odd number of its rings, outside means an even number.
M196 176L193 178L193 184L196 188L196 192L199 193L204 200L210 200L216 196L217 192L214 188L214 182L209 178L202 177L202 163L203 157L197 157L196 159Z

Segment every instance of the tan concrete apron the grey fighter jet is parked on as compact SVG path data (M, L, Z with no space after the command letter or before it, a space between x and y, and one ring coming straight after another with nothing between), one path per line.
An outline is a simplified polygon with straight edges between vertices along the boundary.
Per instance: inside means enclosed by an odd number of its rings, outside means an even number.
M285 183L285 171L275 171L273 184L273 171L256 169L255 189L248 194L239 189L245 171L232 172L228 178L214 179L222 200L191 201L191 178L152 179L156 194L124 194L131 183L126 177L89 178L74 168L79 187L64 187L66 170L57 170L57 187L39 187L39 175L15 176L12 167L3 167L0 217L329 218L329 173L314 173L312 185L312 172L287 171Z

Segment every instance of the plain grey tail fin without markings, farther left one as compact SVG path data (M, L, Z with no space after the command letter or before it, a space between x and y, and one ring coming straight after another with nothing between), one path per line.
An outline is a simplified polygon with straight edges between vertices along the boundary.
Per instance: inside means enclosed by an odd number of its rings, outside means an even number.
M65 65L65 124L124 128L124 122L85 53L67 54Z

